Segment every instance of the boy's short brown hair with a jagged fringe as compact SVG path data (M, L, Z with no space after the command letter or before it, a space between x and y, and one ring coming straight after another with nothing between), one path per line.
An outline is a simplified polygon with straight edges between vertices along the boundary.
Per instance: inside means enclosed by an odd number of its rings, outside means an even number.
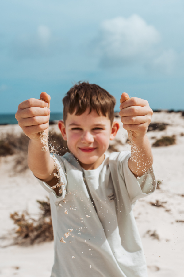
M79 82L63 98L63 121L65 123L68 112L72 114L76 110L75 115L81 115L90 108L90 112L95 110L98 115L102 113L103 116L108 116L112 125L115 104L114 96L105 89L96 84Z

